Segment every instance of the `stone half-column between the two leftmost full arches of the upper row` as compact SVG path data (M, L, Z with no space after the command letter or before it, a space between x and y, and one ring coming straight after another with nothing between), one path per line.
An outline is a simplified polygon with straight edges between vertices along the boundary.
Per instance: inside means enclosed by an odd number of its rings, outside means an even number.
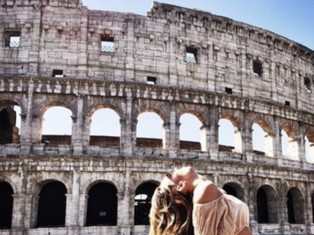
M78 110L77 114L72 116L72 140L73 154L83 154L83 94L77 95ZM86 134L86 133L85 133Z

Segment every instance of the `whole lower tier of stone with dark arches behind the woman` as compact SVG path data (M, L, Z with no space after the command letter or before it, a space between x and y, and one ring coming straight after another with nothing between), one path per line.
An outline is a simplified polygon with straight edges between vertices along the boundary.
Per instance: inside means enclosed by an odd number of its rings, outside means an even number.
M148 234L154 190L182 166L244 201L254 233L313 234L313 171L196 158L9 156L0 157L0 235Z

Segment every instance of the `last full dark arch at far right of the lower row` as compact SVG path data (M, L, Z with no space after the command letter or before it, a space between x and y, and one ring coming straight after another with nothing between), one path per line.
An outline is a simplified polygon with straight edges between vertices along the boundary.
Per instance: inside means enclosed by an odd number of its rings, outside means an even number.
M290 188L287 194L288 222L290 224L304 223L303 196L298 188Z

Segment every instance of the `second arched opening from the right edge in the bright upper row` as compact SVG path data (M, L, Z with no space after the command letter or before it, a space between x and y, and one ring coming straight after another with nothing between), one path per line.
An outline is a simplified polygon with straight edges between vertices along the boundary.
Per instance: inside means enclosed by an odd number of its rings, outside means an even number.
M281 143L283 156L298 160L298 143L294 138L294 132L289 127L284 127L281 131Z

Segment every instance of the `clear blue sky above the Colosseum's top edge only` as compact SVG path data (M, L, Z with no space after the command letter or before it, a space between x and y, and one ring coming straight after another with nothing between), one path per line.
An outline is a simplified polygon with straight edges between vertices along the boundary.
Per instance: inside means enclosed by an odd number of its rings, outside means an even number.
M82 0L89 9L146 15L153 0ZM162 0L206 10L269 31L314 50L314 0Z

